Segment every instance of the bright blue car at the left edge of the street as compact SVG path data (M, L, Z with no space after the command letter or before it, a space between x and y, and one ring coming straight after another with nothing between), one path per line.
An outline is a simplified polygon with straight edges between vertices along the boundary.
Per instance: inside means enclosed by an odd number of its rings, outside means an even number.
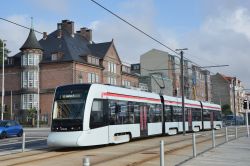
M23 135L23 127L14 120L0 121L0 138L6 138L10 136L21 137Z

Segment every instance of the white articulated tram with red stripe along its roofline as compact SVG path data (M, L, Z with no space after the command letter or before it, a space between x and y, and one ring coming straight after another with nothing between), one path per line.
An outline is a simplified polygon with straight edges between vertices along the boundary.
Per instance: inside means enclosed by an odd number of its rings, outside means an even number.
M183 131L181 98L101 84L58 87L49 146L91 146ZM164 110L164 111L163 111ZM185 130L220 129L221 107L185 99Z

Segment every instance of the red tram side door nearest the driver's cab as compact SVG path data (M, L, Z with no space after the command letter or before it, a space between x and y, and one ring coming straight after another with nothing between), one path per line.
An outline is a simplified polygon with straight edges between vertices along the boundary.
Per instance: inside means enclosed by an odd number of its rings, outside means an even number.
M147 106L140 106L140 135L142 137L148 135L148 125L147 125Z

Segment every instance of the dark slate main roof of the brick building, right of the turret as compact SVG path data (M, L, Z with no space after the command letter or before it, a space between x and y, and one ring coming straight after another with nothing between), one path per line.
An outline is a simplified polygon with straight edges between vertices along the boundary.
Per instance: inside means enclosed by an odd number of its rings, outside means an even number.
M91 44L80 34L74 34L74 37L72 37L71 34L65 30L62 31L62 36L60 38L57 37L57 34L58 31L55 30L49 34L45 40L41 39L39 41L39 45L43 48L42 62L50 62L51 54L57 52L63 54L63 58L60 61L85 62L83 56L86 55L92 55L102 59L112 44L112 41ZM23 46L22 49L27 48L26 42L24 44L25 47ZM20 55L21 54L18 53L15 57L20 57Z

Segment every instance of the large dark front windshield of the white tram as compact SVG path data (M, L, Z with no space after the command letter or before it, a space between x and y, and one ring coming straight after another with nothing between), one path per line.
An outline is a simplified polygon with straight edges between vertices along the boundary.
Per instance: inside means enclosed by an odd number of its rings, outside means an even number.
M90 85L57 88L53 106L53 131L82 130L86 98Z

